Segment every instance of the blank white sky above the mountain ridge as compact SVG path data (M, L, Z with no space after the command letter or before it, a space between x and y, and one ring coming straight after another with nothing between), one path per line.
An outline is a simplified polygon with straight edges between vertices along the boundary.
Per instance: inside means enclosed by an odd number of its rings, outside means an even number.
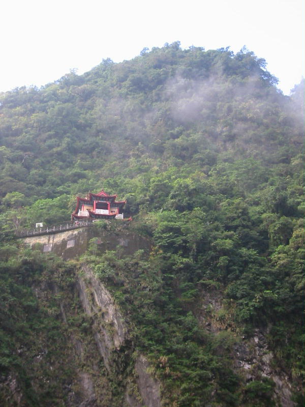
M246 45L290 93L304 75L304 0L2 0L0 91L78 74L180 41Z

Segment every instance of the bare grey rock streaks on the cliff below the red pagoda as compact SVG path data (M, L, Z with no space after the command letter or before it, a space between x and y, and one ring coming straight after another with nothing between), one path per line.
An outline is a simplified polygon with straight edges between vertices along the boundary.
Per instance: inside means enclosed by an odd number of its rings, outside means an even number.
M89 267L84 266L82 272L77 283L79 297L85 313L93 318L94 338L105 367L111 374L114 353L129 339L128 329L106 287ZM147 359L139 355L134 366L136 378L129 381L126 389L125 399L130 407L161 407L160 383L149 373L148 368ZM83 382L90 384L88 375L82 374L81 377ZM131 383L135 386L131 386ZM92 388L87 400L94 400L93 386L85 387Z

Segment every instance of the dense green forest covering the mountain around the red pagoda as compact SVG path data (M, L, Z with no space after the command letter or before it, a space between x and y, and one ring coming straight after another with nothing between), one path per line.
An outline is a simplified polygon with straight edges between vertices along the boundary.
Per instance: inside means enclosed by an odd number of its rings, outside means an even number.
M247 49L176 42L0 94L0 366L22 377L22 405L68 405L50 401L53 388L28 389L30 358L16 350L39 346L38 331L52 341L59 324L33 286L55 279L64 292L79 264L24 248L15 232L70 220L76 196L101 188L127 200L130 228L153 249L121 258L93 242L80 262L114 296L162 405L280 406L270 377L258 369L247 382L232 364L256 329L303 405L305 80L289 97L276 85ZM123 405L111 394L97 405Z

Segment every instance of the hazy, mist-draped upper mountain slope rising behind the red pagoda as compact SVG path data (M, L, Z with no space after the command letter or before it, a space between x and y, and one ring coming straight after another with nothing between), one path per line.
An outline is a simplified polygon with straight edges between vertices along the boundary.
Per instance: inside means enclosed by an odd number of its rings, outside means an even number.
M1 194L23 193L24 205L86 193L107 178L117 179L108 188L127 194L120 177L150 180L186 161L208 172L228 154L285 163L299 148L300 117L274 83L252 52L174 43L2 94ZM60 200L55 206L64 210Z

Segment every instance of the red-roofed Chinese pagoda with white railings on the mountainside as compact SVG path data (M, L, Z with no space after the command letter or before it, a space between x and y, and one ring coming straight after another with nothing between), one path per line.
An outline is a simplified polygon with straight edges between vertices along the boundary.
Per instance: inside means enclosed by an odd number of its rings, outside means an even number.
M72 220L78 219L124 219L122 212L126 200L115 201L117 195L108 195L103 189L98 194L89 193L85 198L77 197Z

